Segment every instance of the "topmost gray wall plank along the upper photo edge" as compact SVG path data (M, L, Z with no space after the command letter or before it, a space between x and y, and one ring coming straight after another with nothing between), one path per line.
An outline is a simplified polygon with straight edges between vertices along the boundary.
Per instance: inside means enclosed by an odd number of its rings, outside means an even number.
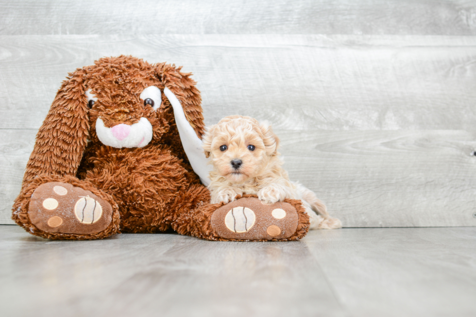
M136 0L0 2L0 34L475 35L468 0Z

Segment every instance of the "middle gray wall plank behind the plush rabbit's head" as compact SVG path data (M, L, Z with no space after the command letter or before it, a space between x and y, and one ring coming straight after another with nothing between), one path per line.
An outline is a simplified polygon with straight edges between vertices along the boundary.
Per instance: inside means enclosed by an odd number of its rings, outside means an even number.
M194 73L206 124L242 114L297 130L470 130L476 36L0 36L0 128L38 128L68 72L132 54Z

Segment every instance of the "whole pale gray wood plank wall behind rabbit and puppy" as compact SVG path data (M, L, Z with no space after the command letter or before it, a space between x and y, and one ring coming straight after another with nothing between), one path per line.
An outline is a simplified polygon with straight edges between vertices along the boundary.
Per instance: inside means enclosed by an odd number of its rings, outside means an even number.
M132 54L194 73L206 124L272 122L345 227L476 225L475 1L0 1L0 223L61 81Z

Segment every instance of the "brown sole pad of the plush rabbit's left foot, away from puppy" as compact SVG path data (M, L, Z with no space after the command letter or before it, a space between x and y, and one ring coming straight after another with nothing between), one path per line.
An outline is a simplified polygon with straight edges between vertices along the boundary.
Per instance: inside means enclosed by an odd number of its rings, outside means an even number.
M46 233L98 235L111 224L112 211L107 201L88 190L50 182L33 192L28 216Z

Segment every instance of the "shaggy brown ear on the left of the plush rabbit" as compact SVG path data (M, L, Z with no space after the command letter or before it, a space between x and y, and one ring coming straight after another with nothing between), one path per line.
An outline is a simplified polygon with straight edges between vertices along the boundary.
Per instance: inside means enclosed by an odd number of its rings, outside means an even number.
M89 135L84 70L70 73L36 134L23 183L38 174L76 175Z

